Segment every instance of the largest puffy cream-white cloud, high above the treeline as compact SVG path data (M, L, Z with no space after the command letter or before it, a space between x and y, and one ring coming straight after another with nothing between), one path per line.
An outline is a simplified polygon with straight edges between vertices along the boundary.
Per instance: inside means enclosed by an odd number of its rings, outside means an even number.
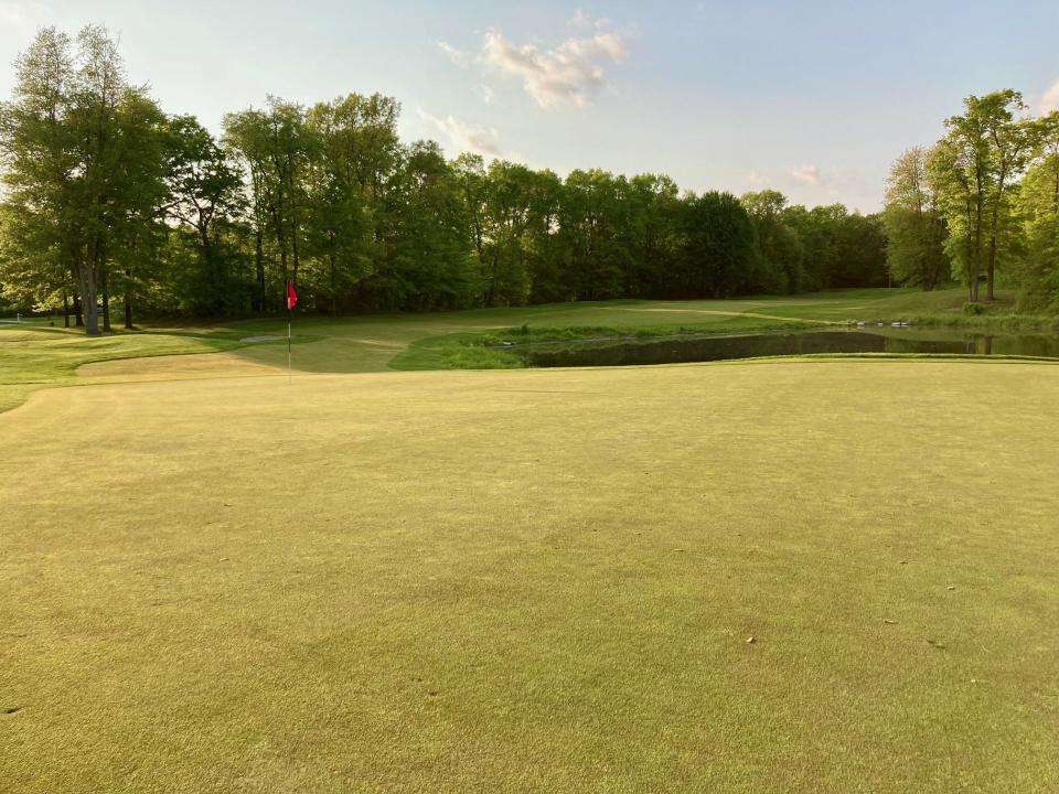
M629 56L625 35L600 31L571 36L552 50L514 44L496 31L485 33L479 61L504 74L521 77L541 107L585 107L607 85L605 64Z

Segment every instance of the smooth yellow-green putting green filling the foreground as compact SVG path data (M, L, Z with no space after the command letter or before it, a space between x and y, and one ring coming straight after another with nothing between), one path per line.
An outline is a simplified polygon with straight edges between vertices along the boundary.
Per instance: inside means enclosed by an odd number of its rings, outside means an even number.
M928 361L39 390L0 790L1059 791L1057 405Z

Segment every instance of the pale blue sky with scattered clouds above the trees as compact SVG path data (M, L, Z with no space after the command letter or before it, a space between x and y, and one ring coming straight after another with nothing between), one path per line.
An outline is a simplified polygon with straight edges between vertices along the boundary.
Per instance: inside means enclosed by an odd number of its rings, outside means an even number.
M379 92L400 132L566 175L666 173L874 212L969 94L1059 109L1059 2L0 0L0 60L99 23L164 110ZM13 69L0 69L10 96Z

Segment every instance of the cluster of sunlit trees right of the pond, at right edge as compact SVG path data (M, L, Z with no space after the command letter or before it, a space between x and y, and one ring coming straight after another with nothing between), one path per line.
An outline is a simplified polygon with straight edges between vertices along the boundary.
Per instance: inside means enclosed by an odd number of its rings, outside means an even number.
M895 279L930 290L951 276L976 303L995 298L999 275L1021 308L1059 313L1059 112L1026 110L1016 90L970 96L937 144L894 163L884 216Z

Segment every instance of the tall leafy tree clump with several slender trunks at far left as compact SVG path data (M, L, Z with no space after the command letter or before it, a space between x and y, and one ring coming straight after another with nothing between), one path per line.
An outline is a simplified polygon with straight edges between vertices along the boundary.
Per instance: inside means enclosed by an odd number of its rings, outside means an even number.
M21 225L9 239L29 247L9 247L9 261L68 271L88 334L99 333L100 299L110 330L111 289L125 293L131 324L136 250L164 191L162 118L146 89L128 84L104 28L82 30L76 52L64 34L42 30L19 61L2 147L9 200L21 207L9 215Z

